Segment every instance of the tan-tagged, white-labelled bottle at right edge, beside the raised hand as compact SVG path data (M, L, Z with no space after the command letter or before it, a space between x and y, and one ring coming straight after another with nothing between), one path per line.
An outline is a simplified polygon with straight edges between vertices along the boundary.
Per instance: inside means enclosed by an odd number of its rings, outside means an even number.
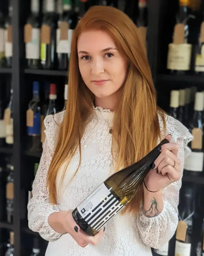
M191 174L200 174L203 170L203 151L202 151L202 111L203 111L203 93L197 92L194 114L192 121L190 122L190 131L193 135L193 140L191 141L191 152L189 152L188 157L185 158L184 169L190 171Z

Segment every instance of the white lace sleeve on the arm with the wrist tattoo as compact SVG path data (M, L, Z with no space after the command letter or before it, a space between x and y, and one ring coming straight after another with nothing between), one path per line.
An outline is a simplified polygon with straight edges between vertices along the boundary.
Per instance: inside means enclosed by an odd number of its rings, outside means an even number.
M172 138L175 136L174 141L177 141L179 146L178 158L181 161L181 172L183 174L184 148L192 139L192 136L181 123L178 123L178 121L175 121L175 119L171 119L171 121L176 122L177 131L181 129L181 132L184 132L181 137L177 137L175 131L168 131L168 133L172 134ZM143 214L142 211L140 211L137 218L137 225L139 235L143 243L145 243L147 246L158 248L159 246L166 244L174 235L178 223L177 206L179 204L181 179L173 182L171 185L163 189L164 208L159 215L148 218Z

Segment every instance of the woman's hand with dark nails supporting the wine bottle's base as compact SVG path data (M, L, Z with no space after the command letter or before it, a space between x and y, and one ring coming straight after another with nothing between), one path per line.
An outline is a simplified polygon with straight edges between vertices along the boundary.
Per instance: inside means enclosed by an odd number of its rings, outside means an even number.
M87 235L73 219L72 210L65 214L64 228L81 247L86 247L88 244L97 245L104 234L104 228L102 228L95 236Z

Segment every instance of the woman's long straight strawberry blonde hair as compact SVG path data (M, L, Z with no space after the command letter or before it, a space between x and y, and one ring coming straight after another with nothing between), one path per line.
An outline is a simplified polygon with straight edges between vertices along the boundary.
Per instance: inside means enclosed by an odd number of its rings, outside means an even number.
M112 155L113 145L117 147L115 171L120 170L121 166L139 161L157 145L160 138L158 113L165 124L164 111L159 109L156 103L156 91L144 48L138 38L137 27L126 14L114 7L91 7L78 23L72 36L66 111L47 175L49 199L53 204L57 202L55 185L57 172L65 161L68 160L67 165L69 164L78 147L81 162L80 140L88 117L94 113L92 108L94 94L81 79L77 50L80 34L90 30L102 30L108 33L120 54L128 61L112 127ZM66 169L64 173L65 171ZM141 186L137 195L123 211L138 213L142 198Z

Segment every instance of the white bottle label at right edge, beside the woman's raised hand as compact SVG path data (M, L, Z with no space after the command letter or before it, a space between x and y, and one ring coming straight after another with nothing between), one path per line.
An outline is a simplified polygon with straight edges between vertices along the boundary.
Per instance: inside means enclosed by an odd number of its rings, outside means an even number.
M184 169L187 171L202 172L203 167L203 152L188 152L185 157Z

